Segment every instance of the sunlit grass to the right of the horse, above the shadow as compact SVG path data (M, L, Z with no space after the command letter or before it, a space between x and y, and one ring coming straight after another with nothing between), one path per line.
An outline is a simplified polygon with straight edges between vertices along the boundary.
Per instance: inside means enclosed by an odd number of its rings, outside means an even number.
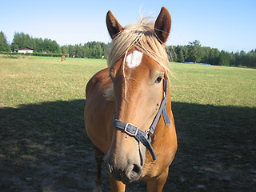
M174 102L214 106L256 106L256 70L172 63Z

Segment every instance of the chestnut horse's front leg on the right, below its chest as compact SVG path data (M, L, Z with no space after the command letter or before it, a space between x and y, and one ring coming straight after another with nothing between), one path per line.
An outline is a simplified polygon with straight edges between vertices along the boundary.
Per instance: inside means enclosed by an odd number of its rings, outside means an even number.
M169 167L166 168L166 170L164 170L162 172L162 174L153 181L148 181L146 183L146 191L147 192L162 192L162 188L166 183L166 179L168 177L168 172L169 172Z

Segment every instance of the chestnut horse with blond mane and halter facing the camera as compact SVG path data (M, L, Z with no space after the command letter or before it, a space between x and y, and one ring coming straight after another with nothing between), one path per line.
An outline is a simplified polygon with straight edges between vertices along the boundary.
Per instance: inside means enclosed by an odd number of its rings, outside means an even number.
M147 192L160 192L178 147L171 110L166 41L171 17L162 7L155 22L142 18L122 27L106 14L112 42L106 69L86 85L86 134L97 165L94 191L102 191L103 160L111 191L146 181Z

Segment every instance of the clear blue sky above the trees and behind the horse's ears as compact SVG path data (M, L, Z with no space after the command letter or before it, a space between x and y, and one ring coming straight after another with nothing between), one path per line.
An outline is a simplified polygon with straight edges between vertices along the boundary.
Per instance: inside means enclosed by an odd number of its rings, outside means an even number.
M0 0L0 31L12 42L15 32L50 38L60 45L110 42L106 12L122 26L143 16L156 18L162 6L170 11L172 29L167 45L187 45L195 39L219 50L256 48L255 0Z

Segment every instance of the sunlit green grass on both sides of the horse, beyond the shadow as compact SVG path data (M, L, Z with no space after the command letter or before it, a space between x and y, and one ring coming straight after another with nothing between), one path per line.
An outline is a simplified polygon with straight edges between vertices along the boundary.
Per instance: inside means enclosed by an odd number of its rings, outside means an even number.
M0 58L0 106L84 98L86 82L106 60ZM256 106L256 70L171 63L174 102L214 106Z

